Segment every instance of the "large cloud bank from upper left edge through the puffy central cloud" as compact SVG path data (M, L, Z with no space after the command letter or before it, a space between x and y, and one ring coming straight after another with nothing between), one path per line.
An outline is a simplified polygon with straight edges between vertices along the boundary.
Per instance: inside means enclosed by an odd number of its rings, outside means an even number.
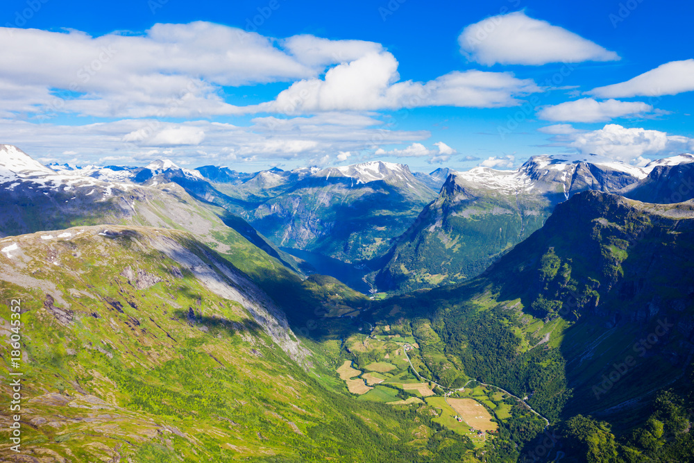
M482 71L401 82L398 61L375 42L312 35L277 40L208 22L155 24L143 35L100 37L12 29L0 33L0 60L12 63L0 69L0 117L496 108L540 91L530 79ZM292 84L261 105L235 106L223 98L223 87L273 82Z

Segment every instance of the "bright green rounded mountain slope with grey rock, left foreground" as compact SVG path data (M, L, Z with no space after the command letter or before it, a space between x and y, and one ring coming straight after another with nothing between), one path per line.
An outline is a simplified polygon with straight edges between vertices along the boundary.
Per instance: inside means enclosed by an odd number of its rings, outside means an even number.
M428 412L362 404L262 290L190 233L93 226L0 242L19 307L22 458L42 462L458 461ZM19 301L19 302L17 302ZM0 414L0 455L10 449ZM7 426L6 426L7 425ZM424 439L414 436L423 432Z

